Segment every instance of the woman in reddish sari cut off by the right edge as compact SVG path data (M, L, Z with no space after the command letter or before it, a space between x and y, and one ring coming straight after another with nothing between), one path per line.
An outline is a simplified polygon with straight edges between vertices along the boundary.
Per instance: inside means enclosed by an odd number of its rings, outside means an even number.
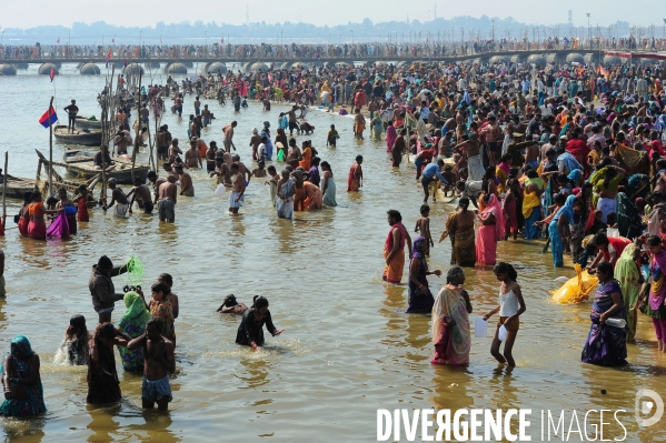
M652 254L649 268L652 284L644 312L653 320L658 351L666 352L666 272L664 272L666 270L666 250L664 250L662 239L657 235L647 238L647 250ZM637 304L640 304L640 300Z

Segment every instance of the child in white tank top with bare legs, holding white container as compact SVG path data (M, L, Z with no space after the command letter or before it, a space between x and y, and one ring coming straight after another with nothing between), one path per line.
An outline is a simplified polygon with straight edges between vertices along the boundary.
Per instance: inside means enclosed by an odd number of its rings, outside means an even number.
M520 292L520 285L516 282L518 273L509 263L499 262L493 269L497 280L501 282L499 285L499 306L484 315L484 320L488 320L490 316L499 312L499 321L497 322L497 329L495 330L495 336L493 338L493 344L490 345L490 353L499 363L507 363L509 366L515 366L514 355L511 351L514 349L514 342L520 328L519 316L525 312L525 300L523 300L523 292ZM499 340L499 330L504 326L506 329L506 343L504 345L504 356L499 353L499 346L501 340Z

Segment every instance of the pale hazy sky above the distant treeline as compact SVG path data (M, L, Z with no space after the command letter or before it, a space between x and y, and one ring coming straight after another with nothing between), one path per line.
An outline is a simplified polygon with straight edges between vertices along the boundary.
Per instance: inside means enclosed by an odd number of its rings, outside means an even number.
M242 24L246 22L246 4L249 6L250 21L267 23L305 21L318 26L359 22L368 17L375 22L410 19L429 21L435 4L437 17L489 16L527 23L564 23L567 11L573 11L575 26L587 26L586 12L592 12L590 23L605 27L620 19L630 24L655 24L663 29L666 17L664 0L475 0L475 1L428 1L428 0L139 0L137 2L109 2L100 0L0 0L0 29L31 28L40 24L71 26L74 21L90 23L105 20L119 26L152 27L158 21L178 23L202 20L217 23ZM29 8L27 8L29 4ZM593 8L596 6L596 8ZM594 11L596 9L596 11ZM653 12L650 12L653 11Z

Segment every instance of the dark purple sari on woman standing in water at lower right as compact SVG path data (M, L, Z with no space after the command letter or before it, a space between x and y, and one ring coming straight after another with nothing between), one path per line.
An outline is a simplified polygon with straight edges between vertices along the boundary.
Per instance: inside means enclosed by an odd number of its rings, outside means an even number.
M600 323L602 314L613 306L610 294L619 293L622 289L616 280L600 283L595 294L592 306L589 334L580 355L584 363L598 364L602 366L618 366L626 363L627 358L627 331L625 329ZM626 320L625 306L623 305L609 319Z

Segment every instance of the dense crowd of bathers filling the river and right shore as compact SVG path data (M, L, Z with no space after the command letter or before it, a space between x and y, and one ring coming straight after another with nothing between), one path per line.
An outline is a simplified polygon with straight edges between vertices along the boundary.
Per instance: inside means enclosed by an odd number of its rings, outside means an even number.
M662 272L666 266L664 77L666 72L658 64L389 64L229 72L181 85L172 81L149 85L138 103L141 118L145 109L163 112L169 99L173 100L172 112L181 113L183 105L189 107L186 94L195 97L187 134L189 149L180 149L178 138L166 124L156 134L166 177L157 171L148 174L153 192L139 179L127 194L110 180L110 202L103 198L96 201L85 187L73 199L64 189L59 191L59 199L47 201L46 207L41 194L30 194L19 214L19 229L22 234L43 239L49 215L76 226L76 219L83 221L81 218L87 218L88 209L96 204L105 210L116 207L115 214L126 217L135 202L147 213L157 205L160 220L172 222L178 198L195 195L187 171L203 168L203 161L219 185L216 193L231 190L231 213L238 212L252 178L269 185L278 218L290 219L294 211L319 210L324 204L335 207L330 164L320 161L311 140L301 140L299 148L292 135L295 131L314 131L306 120L308 105L344 115L350 104L355 118L347 122L354 125L356 143L362 144L368 119L372 137L386 140L387 168L400 168L406 157L407 168L415 169L424 190L415 225L420 235L414 241L402 215L395 210L387 213L390 230L384 246L382 276L387 283L402 281L407 246L407 311L431 314L434 364L469 361L474 300L464 289L464 268L475 265L493 266L499 281L498 305L483 315L487 321L499 314L490 353L500 363L516 364L513 348L526 304L515 266L497 261L497 244L518 236L545 239L554 266L563 266L566 254L571 264L597 276L599 286L581 360L625 364L626 343L636 334L637 311L652 318L658 351L666 352L666 274ZM248 167L235 152L237 121L221 128L222 148L201 139L201 128L212 124L213 115L206 112L206 105L201 108L200 98L217 99L225 89L233 102L247 93L267 111L276 101L276 90L281 91L278 101L289 102L287 111L278 115L275 137L269 121L261 129L247 131L248 164L251 161L257 168ZM118 113L120 127L128 124L133 111L131 103L127 105ZM335 145L338 139L331 124L327 144ZM108 148L98 153L100 165L108 155ZM272 164L266 168L268 162ZM277 164L282 162L278 173ZM349 169L347 192L362 190L362 164L364 155L359 154ZM427 276L444 272L428 268L435 245L428 203L431 197L440 200L448 193L458 199L458 207L449 214L439 241L450 239L451 268L446 272L446 285L434 296ZM478 210L470 210L470 204ZM543 246L535 241L534 246L525 248ZM110 259L100 258L89 281L99 323L90 333L82 316L72 318L64 345L72 364L89 366L89 402L120 399L113 359L113 348L118 346L126 370L143 371L143 405L157 403L166 409L171 400L168 376L175 371L178 296L169 274L152 284L149 301L140 288L117 293L112 276L127 271L127 264L113 266ZM121 300L127 311L115 328L111 314L115 302ZM229 295L218 311L242 315L236 342L255 350L265 343L265 325L272 335L282 332L272 324L268 301L261 296L248 309ZM0 412L43 412L39 356L24 336L12 342L3 362L2 383L6 402Z

